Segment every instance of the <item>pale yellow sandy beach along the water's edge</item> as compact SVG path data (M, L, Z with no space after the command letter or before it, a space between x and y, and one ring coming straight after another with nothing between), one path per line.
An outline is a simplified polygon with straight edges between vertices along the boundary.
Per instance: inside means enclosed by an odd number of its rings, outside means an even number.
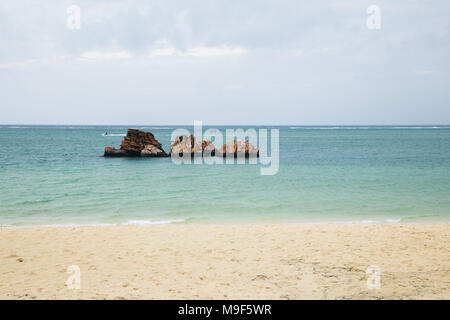
M3 228L0 239L2 299L450 298L448 224ZM66 286L70 265L79 290Z

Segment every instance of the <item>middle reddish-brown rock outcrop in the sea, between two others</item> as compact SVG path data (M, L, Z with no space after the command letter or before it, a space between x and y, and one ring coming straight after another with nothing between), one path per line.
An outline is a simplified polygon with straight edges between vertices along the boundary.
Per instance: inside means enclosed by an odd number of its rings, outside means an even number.
M211 141L200 140L195 142L195 137L192 134L176 137L170 147L170 155L190 154L194 156L195 154L201 154L202 156L214 156L215 152L216 148Z

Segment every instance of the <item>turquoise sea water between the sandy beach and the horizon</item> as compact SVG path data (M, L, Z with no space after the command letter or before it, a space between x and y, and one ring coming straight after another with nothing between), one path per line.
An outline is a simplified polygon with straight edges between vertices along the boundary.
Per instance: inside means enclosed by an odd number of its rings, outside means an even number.
M137 128L168 151L177 127ZM450 127L278 128L279 172L261 176L259 165L102 157L127 127L0 126L0 223L450 220Z

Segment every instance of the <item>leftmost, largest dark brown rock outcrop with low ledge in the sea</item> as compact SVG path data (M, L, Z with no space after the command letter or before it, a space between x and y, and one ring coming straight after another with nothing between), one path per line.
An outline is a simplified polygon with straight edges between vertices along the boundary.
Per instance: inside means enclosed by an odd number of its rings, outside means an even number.
M167 157L152 133L128 129L120 149L105 148L105 157Z

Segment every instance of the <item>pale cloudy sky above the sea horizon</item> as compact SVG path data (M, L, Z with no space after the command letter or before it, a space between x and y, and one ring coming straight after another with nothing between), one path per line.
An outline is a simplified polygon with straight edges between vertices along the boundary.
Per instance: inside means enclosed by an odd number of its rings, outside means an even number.
M0 124L450 124L449 16L448 0L2 1Z

